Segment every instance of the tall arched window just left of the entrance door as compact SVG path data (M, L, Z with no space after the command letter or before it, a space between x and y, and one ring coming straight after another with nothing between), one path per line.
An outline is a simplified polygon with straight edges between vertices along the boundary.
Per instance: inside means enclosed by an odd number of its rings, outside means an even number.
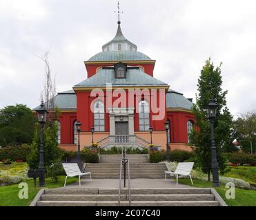
M105 131L105 111L103 102L95 102L94 105L95 131Z

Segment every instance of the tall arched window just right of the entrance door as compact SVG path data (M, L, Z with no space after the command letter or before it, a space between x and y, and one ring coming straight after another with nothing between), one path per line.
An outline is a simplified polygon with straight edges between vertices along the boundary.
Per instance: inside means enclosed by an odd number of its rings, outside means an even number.
M149 104L145 100L139 102L139 131L149 131Z

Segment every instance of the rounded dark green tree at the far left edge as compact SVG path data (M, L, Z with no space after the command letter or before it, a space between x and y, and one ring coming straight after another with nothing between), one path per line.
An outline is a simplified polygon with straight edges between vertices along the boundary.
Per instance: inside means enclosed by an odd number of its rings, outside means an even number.
M0 109L0 146L32 143L36 118L24 104Z

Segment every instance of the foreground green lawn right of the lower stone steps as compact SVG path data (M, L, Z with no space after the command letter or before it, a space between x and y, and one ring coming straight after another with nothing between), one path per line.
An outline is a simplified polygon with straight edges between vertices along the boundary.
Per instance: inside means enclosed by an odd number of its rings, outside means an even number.
M181 184L191 185L189 179L179 179ZM202 181L193 179L195 187L201 188L213 188L212 183L208 181ZM235 199L226 199L226 188L221 185L220 188L215 188L219 195L226 201L228 206L256 206L256 190L242 190L240 188L235 188Z

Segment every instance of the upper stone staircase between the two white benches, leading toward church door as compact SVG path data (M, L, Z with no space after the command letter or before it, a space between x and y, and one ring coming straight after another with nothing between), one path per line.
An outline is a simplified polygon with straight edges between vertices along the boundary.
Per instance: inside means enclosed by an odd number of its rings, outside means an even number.
M148 155L126 155L126 158L130 160L130 179L164 179L165 164L151 164ZM86 172L92 173L92 179L119 179L120 161L121 155L101 155L99 164L86 164Z

